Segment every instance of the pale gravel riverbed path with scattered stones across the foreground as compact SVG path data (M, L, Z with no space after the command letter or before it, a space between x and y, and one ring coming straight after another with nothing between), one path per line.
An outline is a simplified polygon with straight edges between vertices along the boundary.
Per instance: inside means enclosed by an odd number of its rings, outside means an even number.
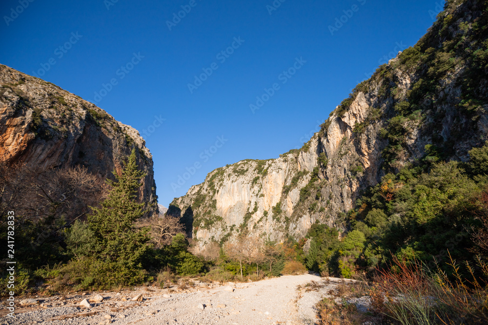
M41 305L19 308L15 319L1 317L1 324L314 324L313 306L323 295L297 290L297 286L311 281L324 280L312 274L285 275L228 286L199 284L200 287L180 292L142 287L132 291L72 294L66 298L36 298ZM102 295L101 303L90 308L79 305L82 299L96 294ZM142 294L143 301L132 301L138 294Z

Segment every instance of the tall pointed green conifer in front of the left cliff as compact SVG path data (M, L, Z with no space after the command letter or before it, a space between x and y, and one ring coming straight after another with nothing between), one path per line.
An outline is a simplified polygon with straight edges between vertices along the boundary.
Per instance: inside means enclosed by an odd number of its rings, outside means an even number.
M92 208L93 213L88 216L89 228L97 242L94 257L134 268L146 252L146 243L150 239L149 229L136 229L134 226L134 222L143 214L143 204L137 203L136 193L145 176L137 168L134 149L122 173L113 173L116 181L107 179L111 189L102 202L102 208Z

